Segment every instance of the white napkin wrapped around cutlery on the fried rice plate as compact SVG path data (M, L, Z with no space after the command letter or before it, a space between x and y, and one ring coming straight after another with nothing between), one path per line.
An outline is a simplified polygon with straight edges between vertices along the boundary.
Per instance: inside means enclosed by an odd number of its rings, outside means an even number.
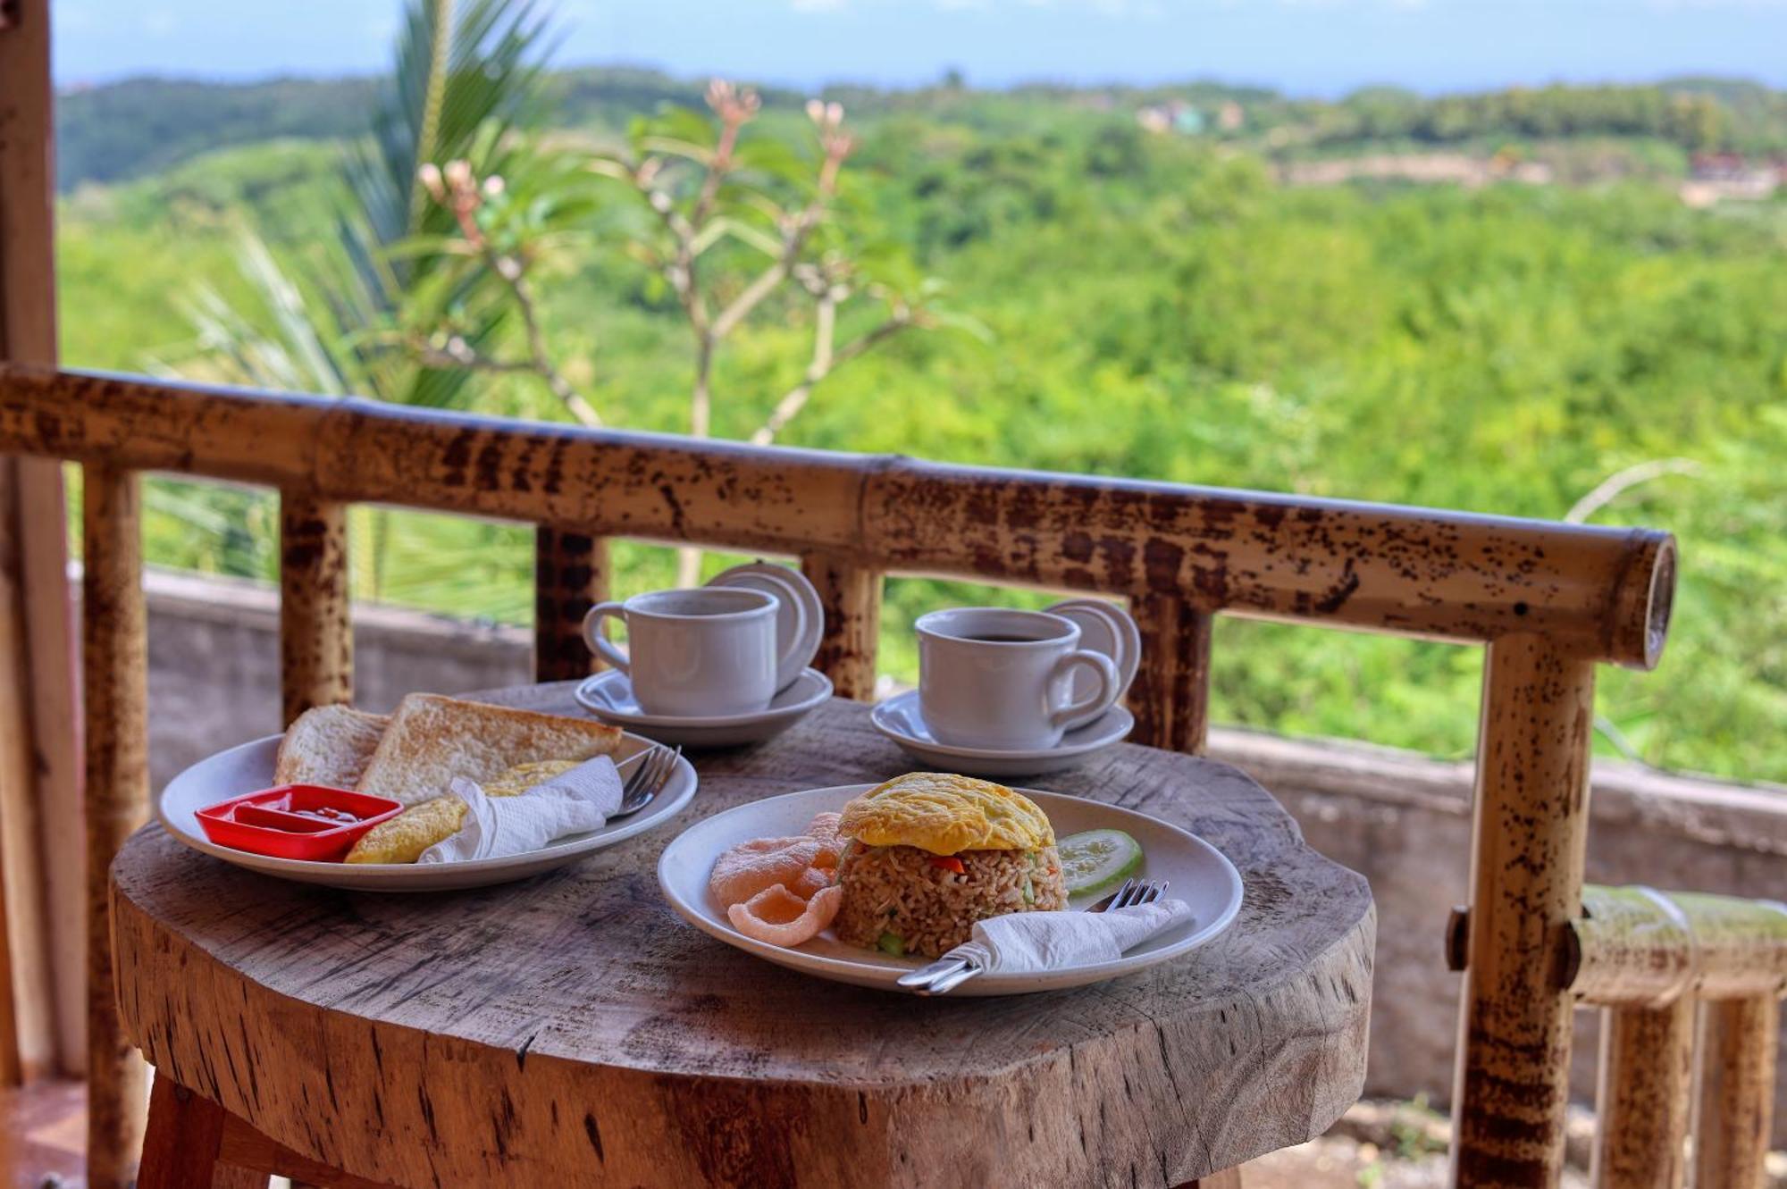
M1010 912L976 921L972 939L944 957L969 959L988 975L1040 975L1115 962L1126 950L1190 919L1192 907L1183 900L1106 912Z

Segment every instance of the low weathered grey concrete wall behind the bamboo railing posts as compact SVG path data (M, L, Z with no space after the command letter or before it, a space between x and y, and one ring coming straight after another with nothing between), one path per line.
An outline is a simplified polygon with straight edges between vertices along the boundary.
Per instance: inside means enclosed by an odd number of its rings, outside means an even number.
M529 636L386 607L356 609L359 705L409 691L463 693L529 680ZM186 764L279 730L279 614L243 582L148 577L150 768L159 789ZM1238 764L1296 814L1310 843L1362 871L1378 900L1369 1093L1444 1102L1458 975L1442 937L1465 900L1471 771L1358 743L1217 730ZM1787 789L1598 764L1589 878L1787 900ZM1578 1019L1576 1091L1594 1093L1594 1016ZM1787 1141L1787 1082L1776 1109Z

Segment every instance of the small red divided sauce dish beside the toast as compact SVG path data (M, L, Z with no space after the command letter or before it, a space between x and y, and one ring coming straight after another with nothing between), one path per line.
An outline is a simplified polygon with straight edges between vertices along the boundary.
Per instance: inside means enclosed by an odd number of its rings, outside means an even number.
M322 784L282 784L198 811L218 846L275 859L340 862L359 836L404 812L402 802Z

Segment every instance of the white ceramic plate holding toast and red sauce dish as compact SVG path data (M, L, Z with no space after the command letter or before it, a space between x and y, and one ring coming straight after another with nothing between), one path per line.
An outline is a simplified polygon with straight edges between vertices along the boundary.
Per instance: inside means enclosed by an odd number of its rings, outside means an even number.
M670 777L670 782L658 793L650 805L631 818L622 818L615 825L590 834L574 834L524 855L475 859L472 862L309 862L304 859L273 859L247 850L218 846L198 827L197 811L232 796L241 796L243 793L270 787L273 784L273 757L279 753L279 739L281 736L268 736L198 761L170 780L168 787L161 791L161 798L155 802L155 818L168 828L168 834L193 850L202 850L238 868L277 875L284 880L347 887L350 891L449 891L454 887L508 884L509 880L524 880L529 875L561 868L588 855L591 850L613 846L668 821L695 796L695 768L688 761L677 759L677 769ZM649 746L652 746L650 739L627 734L620 743L620 750L615 752L615 759L625 759Z

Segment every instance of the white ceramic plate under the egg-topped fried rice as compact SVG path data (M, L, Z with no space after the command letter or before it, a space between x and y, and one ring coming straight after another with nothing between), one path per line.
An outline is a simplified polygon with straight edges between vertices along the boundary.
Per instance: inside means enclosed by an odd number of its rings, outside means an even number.
M799 950L772 946L734 930L726 919L726 910L708 894L708 873L713 869L713 861L727 848L754 837L799 834L813 819L813 814L840 811L852 796L872 787L872 784L847 784L833 789L808 789L806 793L740 805L706 821L697 821L665 848L663 859L658 861L658 886L683 919L729 946L818 978L899 991L895 980L919 969L929 959L897 959L879 950L860 950L833 937L829 928ZM1145 855L1142 875L1169 880L1167 894L1192 907L1192 921L1149 939L1115 962L1088 962L1045 975L981 975L961 984L954 994L1056 991L1129 975L1196 950L1228 928L1235 914L1240 912L1240 873L1201 837L1129 809L1060 793L1022 791L1049 814L1060 837L1095 828L1128 830L1142 843ZM1072 907L1083 909L1090 900L1094 898L1078 898Z

